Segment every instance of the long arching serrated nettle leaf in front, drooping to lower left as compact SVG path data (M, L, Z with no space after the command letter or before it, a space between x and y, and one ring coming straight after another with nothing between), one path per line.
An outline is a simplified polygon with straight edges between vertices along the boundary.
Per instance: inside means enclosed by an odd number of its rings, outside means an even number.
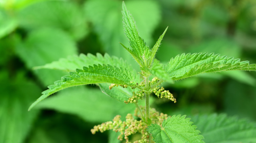
M54 85L48 86L49 89L42 92L43 95L29 107L29 110L51 94L68 87L96 83L114 83L129 86L133 84L133 81L134 75L127 69L119 69L105 64L83 67L83 70L76 69L76 72L70 72L70 75L63 76L61 80L54 82Z

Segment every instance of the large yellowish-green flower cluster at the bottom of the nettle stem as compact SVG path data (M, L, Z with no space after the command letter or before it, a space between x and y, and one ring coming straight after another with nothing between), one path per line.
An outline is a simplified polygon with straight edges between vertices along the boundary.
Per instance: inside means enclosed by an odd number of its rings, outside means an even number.
M145 107L142 107L142 108L145 108ZM138 109L135 110L135 117L141 118L141 115L138 115ZM117 139L123 140L124 138L126 140L126 143L131 143L129 142L129 136L134 135L136 133L140 133L141 139L134 141L133 143L149 142L150 135L146 131L147 124L145 122L143 122L142 120L134 119L132 114L127 114L125 121L121 121L120 118L121 116L117 115L112 121L108 121L100 125L94 126L94 128L91 129L92 134L95 134L98 131L102 133L106 130L113 130L115 132L121 133L117 137ZM160 125L164 119L167 119L167 114L159 113L156 111L156 109L150 108L150 119L151 119L151 123Z

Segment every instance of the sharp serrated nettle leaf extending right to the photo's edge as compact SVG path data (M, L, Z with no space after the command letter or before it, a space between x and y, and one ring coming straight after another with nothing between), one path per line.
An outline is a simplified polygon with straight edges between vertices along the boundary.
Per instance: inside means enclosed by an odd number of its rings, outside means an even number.
M256 64L249 64L249 61L234 59L233 57L214 55L214 53L181 54L172 58L167 67L169 75L173 80L187 78L199 73L217 71L256 71Z

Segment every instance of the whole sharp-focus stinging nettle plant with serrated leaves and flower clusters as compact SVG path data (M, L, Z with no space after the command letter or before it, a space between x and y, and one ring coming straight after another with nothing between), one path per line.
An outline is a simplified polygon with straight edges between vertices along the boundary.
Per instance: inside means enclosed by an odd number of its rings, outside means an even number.
M125 139L127 143L129 136L136 133L141 134L141 139L135 141L138 143L153 141L156 143L204 142L203 135L199 135L200 131L196 130L195 125L192 125L190 118L185 118L185 115L168 117L166 114L150 108L150 94L167 98L176 103L176 99L170 91L160 87L161 83L174 83L177 80L207 72L256 71L256 64L249 64L249 61L241 62L240 59L214 53L194 53L178 55L163 65L155 59L155 55L168 27L153 48L150 49L139 37L135 21L126 9L124 2L122 14L124 33L131 48L120 44L133 56L141 71L136 72L126 61L108 54L104 56L101 54L96 54L96 56L81 54L35 67L35 69L48 68L69 71L69 75L63 76L60 81L54 82L54 85L42 92L43 95L32 103L29 110L59 90L78 85L96 84L105 94L126 104L133 103L137 108L134 116L127 114L125 121L121 121L121 117L117 115L113 121L95 126L91 130L93 134L97 131L113 130L120 132L118 139ZM79 67L83 67L83 69L77 69ZM139 106L138 101L142 100L143 97L145 106ZM225 116L212 116L210 119L221 120L222 118L227 119Z

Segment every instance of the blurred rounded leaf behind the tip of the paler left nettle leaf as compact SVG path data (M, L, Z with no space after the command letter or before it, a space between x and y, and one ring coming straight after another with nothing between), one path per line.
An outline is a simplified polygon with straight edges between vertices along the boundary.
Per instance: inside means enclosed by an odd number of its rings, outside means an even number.
M27 68L42 66L69 55L77 54L75 42L67 33L52 28L41 28L29 33L27 38L17 44L17 55L24 61ZM40 81L48 86L67 72L40 69L33 71Z

